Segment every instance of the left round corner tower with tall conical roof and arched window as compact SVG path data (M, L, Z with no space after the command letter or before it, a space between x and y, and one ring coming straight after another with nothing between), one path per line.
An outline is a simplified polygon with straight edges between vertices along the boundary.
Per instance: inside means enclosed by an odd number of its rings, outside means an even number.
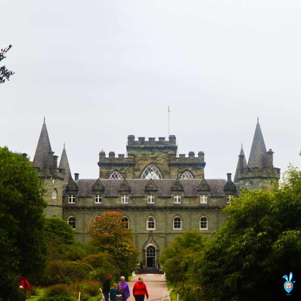
M36 153L33 158L33 168L39 178L44 182L45 200L47 207L44 209L46 217L58 216L63 218L63 180L64 169L57 168L57 158L51 151L48 131L45 123L42 126Z

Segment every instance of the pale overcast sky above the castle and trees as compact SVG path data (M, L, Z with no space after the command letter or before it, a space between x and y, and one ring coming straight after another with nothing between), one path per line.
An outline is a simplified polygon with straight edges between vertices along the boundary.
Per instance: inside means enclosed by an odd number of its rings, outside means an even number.
M205 178L249 158L257 122L274 166L301 166L301 2L2 0L0 145L33 160L44 114L52 151L97 178L128 135L205 153ZM232 176L232 178L234 175Z

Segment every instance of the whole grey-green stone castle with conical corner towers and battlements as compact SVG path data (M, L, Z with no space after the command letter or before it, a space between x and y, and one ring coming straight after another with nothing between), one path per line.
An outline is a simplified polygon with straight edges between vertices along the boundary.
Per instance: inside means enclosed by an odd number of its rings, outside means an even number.
M47 217L58 216L73 228L77 241L89 240L89 222L106 210L123 213L132 229L133 243L140 260L151 267L153 258L177 234L196 228L210 234L225 223L222 212L239 190L270 190L271 178L280 178L273 166L273 152L266 150L259 121L247 163L241 147L234 180L206 179L204 152L179 154L176 137L128 136L127 157L99 153L99 177L79 179L71 176L67 153L62 152L59 166L51 150L45 118L32 166L47 189Z

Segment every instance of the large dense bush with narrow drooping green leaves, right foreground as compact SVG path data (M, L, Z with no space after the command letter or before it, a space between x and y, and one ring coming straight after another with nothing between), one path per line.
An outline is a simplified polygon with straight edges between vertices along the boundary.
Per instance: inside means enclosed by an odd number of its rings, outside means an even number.
M245 191L224 212L229 218L204 252L183 259L191 289L203 300L285 298L282 276L301 277L301 172L290 167L279 188Z

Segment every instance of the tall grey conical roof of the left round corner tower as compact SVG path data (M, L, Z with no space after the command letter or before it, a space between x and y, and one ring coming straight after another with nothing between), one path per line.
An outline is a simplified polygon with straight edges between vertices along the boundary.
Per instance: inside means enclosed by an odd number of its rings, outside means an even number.
M47 127L45 123L45 117L44 117L44 123L42 126L40 138L38 141L38 145L36 148L36 153L33 158L33 167L47 167L48 164L48 152L51 151L51 145L48 137Z

